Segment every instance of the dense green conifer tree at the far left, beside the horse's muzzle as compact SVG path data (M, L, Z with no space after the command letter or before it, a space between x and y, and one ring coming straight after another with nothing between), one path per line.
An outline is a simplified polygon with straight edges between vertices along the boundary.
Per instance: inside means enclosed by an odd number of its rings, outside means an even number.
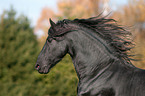
M38 43L27 17L11 8L0 16L0 96L21 96L31 86Z

